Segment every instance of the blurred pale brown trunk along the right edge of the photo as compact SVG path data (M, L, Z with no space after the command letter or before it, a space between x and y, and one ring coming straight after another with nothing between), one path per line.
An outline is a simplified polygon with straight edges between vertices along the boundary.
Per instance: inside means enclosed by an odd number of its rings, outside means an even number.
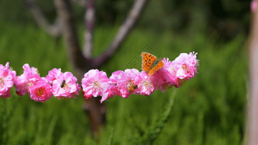
M249 85L247 145L258 145L258 10L253 14L249 44Z

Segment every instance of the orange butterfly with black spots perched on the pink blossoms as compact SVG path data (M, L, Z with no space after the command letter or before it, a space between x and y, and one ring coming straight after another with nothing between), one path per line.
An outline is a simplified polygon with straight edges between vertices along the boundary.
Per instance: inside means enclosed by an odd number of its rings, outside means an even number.
M164 66L161 58L157 59L155 56L148 52L142 52L141 58L141 70L149 73L149 76L151 76L153 73L155 73L155 71L161 69Z

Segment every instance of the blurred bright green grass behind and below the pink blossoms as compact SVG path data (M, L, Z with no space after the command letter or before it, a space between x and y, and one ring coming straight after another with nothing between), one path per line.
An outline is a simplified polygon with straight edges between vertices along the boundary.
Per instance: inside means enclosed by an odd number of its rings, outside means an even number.
M41 76L53 68L73 72L62 39L55 40L34 26L0 24L0 64L9 61L17 75L25 63L38 68ZM116 31L96 28L94 56L105 50ZM220 43L203 33L188 38L135 29L116 55L101 67L108 76L126 69L133 57L140 59L138 53L146 44L159 58L173 60L180 53L197 52L197 76L181 88L165 93L158 90L151 96L116 96L105 101L106 126L101 129L99 143L91 139L82 96L69 101L51 98L40 103L28 95L15 95L12 88L11 98L0 98L0 144L241 145L247 85L244 43L243 35ZM173 105L169 103L171 97Z

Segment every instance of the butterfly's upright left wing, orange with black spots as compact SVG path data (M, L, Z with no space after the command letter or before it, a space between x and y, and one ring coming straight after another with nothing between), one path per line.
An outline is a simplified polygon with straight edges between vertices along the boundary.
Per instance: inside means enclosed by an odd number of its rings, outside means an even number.
M153 62L157 60L157 58L148 52L142 52L141 58L142 58L141 70L146 73L149 73Z

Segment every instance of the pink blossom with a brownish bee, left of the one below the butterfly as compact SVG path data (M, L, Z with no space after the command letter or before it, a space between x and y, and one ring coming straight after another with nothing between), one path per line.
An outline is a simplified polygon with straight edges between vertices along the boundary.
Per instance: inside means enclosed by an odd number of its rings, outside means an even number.
M120 72L121 79L117 81L117 87L120 90L120 95L123 98L128 98L130 94L136 94L136 88L138 84L135 83L135 79L139 71L137 69L126 69L124 72ZM136 88L134 88L136 87Z

